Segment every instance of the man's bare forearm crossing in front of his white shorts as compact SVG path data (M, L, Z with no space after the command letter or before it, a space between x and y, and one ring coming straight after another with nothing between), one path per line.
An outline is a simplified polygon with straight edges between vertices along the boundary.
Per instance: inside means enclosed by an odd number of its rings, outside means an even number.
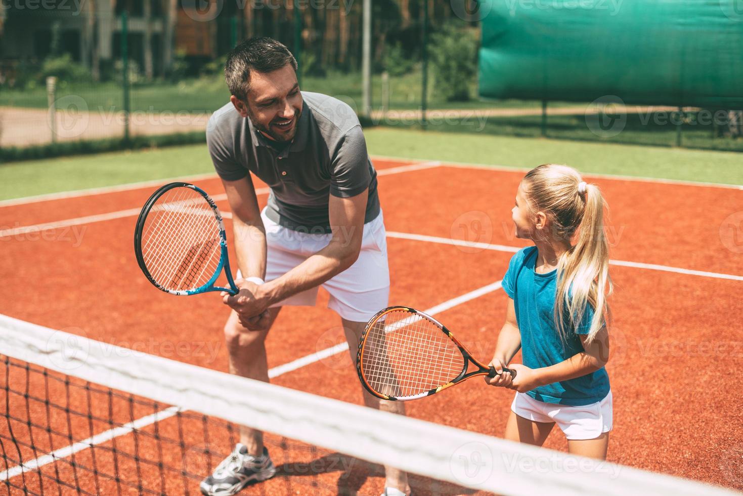
M282 277L265 283L261 289L267 294L270 305L279 303L293 294L319 286L345 271L354 264L358 254L358 250L334 239L328 246L308 257Z

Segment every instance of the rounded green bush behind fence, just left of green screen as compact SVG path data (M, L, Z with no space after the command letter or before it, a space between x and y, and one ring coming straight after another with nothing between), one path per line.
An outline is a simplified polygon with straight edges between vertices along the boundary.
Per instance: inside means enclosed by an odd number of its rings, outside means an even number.
M478 40L471 28L445 25L433 38L429 51L436 91L447 101L470 100L470 85L477 76Z

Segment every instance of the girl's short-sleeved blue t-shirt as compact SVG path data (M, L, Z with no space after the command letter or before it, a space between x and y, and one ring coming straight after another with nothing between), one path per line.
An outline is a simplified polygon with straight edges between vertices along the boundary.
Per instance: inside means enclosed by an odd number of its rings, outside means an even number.
M511 257L503 277L503 289L513 299L516 309L523 362L531 369L550 367L583 352L577 335L588 334L594 315L587 305L580 328L568 330L566 342L563 342L554 324L557 269L537 274L534 271L536 258L536 246L522 248ZM545 403L589 405L609 394L609 375L602 367L582 377L536 387L526 394Z

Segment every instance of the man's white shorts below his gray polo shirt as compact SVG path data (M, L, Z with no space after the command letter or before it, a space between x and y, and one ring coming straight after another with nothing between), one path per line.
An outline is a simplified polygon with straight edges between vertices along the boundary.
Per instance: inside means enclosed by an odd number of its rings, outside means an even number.
M266 229L266 281L291 271L311 254L325 248L332 234L311 234L282 227L261 213ZM241 277L238 271L238 277ZM389 302L389 266L384 219L380 212L376 219L364 225L361 252L354 265L322 284L330 301L328 308L342 318L366 322ZM297 293L273 306L314 306L317 287Z

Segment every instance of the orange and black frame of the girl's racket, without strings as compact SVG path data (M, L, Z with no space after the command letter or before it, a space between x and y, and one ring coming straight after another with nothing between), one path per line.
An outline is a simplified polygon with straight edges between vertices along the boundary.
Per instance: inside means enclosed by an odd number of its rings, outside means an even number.
M451 381L447 382L446 384L441 384L438 387L434 387L430 390L424 391L423 393L418 393L410 396L388 396L386 394L380 393L376 390L374 390L373 387L371 387L371 384L369 384L368 381L366 381L366 378L364 377L363 373L363 351L364 347L366 345L366 338L369 335L369 331L373 328L374 324L377 323L377 321L380 320L380 318L383 318L384 315L387 315L391 312L408 312L412 315L418 315L421 318L424 318L428 321L431 321L436 326L438 326L439 329L441 329L441 332L444 333L448 338L452 340L452 342L458 347L459 352L461 352L462 356L464 357L464 367L462 368L461 372L458 376L456 376ZM478 370L473 370L470 373L467 373L467 370L470 368L469 364L472 362L476 367L478 367ZM464 381L464 379L469 379L472 376L490 376L493 377L496 374L495 367L487 367L484 364L481 363L481 361L478 361L477 358L474 358L470 351L467 350L467 348L464 347L463 344L459 342L457 338L455 338L454 334L447 329L447 326L444 326L443 323L437 321L435 318L432 318L430 315L427 315L424 312L419 312L416 309L413 309L409 306L389 306L386 309L380 310L377 312L374 317L372 317L369 320L369 323L366 324L366 328L364 328L363 333L361 334L361 338L359 339L359 349L356 353L356 373L359 376L359 379L361 381L361 384L363 384L364 389L369 391L369 393L372 396L376 396L380 399L386 399L388 401L410 401L412 399L419 399L424 398L425 396L431 396L432 394L438 393L441 390L447 389L448 387L452 387L455 384L459 384L461 381Z

